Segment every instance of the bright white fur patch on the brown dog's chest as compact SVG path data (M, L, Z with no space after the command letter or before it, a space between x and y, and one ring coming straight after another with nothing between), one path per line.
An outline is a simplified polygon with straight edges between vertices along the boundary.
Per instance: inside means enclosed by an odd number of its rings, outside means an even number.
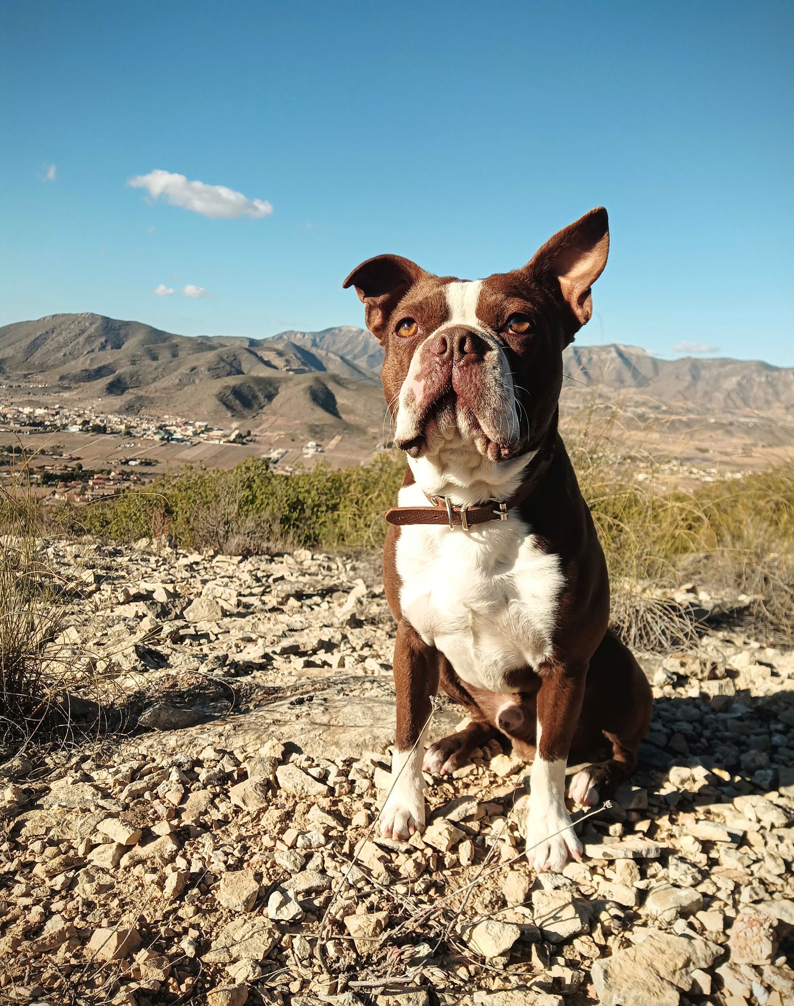
M418 486L401 506L423 506ZM467 684L508 691L505 675L536 666L550 649L563 573L514 513L462 528L410 525L396 547L403 615Z

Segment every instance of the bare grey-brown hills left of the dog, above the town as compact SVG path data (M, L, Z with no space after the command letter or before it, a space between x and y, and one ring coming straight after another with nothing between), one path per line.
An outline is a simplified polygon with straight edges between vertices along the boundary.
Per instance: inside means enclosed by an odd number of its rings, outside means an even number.
M326 337L321 345L302 333L191 338L101 315L52 315L0 329L0 375L131 415L219 425L267 417L371 435L381 412L377 373L327 348L349 331L316 333Z

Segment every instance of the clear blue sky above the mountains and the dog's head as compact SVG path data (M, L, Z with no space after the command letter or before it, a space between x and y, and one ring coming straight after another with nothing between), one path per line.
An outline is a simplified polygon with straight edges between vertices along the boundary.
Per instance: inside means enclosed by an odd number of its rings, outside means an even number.
M582 343L794 365L790 2L0 14L0 323L360 325L341 282L361 260L485 276L603 203L612 254ZM154 171L241 195L167 178L169 202Z

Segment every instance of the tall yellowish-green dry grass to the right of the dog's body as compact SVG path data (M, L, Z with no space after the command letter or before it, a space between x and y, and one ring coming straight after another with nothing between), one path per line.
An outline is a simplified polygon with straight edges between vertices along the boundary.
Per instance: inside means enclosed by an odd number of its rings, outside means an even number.
M673 595L695 578L712 598L740 600L760 641L794 642L794 463L682 489L650 454L624 453L621 423L619 404L594 399L568 437L621 638L660 652L691 644L697 613Z

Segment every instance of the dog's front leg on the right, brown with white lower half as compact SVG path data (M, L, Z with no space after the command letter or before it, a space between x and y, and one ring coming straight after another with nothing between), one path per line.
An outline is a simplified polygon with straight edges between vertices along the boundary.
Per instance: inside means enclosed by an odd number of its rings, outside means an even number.
M587 668L548 662L538 667L535 757L529 773L526 857L538 873L559 872L569 853L582 858L565 802L566 766L582 699ZM555 834L559 833L559 834Z

